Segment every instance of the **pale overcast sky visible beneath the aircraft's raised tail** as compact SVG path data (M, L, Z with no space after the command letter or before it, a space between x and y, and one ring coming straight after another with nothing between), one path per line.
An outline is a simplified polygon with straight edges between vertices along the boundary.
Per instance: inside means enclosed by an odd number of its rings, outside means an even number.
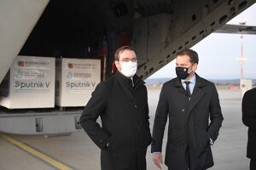
M247 20L247 26L256 26L256 4L230 20L228 24L239 24ZM241 35L212 33L192 47L199 54L197 73L207 79L240 78ZM243 35L244 78L256 79L256 35ZM175 74L175 60L149 78L172 78Z

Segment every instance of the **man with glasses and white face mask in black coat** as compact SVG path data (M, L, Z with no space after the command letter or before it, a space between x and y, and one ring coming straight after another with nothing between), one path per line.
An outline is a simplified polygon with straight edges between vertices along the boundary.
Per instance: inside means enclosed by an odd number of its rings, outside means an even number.
M148 94L135 75L137 57L129 46L117 49L118 71L97 85L80 118L81 126L101 149L102 170L146 170L151 143ZM101 116L102 127L96 122Z

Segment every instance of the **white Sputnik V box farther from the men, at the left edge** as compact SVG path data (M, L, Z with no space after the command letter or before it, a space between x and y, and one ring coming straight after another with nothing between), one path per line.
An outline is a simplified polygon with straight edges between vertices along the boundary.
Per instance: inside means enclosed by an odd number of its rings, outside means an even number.
M17 56L0 88L0 105L9 109L55 106L55 58Z

